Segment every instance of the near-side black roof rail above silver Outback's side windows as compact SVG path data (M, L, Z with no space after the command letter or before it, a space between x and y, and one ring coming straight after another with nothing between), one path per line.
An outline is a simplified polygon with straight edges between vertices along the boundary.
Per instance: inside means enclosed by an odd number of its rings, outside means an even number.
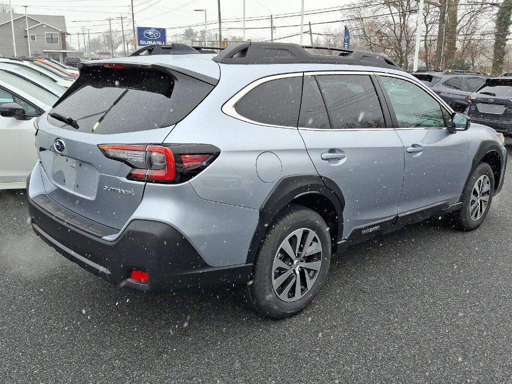
M315 55L306 49L325 49L339 54ZM224 64L339 63L400 69L393 60L373 52L300 46L286 42L240 42L226 48L213 59Z

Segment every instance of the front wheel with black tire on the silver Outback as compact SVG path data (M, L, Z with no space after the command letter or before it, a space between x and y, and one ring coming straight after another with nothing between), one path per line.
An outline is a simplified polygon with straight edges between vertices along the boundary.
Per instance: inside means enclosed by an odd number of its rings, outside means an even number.
M483 187L480 187L479 184L482 182ZM478 193L478 188L481 190L480 193ZM462 208L459 211L454 212L455 220L459 229L471 231L477 229L482 224L487 216L490 204L493 201L493 194L493 169L487 163L480 163L477 165L464 187L462 192ZM487 199L486 203L485 199ZM480 210L477 211L476 209Z

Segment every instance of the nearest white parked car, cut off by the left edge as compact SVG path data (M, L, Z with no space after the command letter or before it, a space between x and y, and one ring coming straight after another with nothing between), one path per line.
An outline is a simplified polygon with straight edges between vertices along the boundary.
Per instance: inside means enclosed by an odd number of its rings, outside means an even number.
M30 81L0 71L0 189L26 187L37 161L34 121L57 99Z

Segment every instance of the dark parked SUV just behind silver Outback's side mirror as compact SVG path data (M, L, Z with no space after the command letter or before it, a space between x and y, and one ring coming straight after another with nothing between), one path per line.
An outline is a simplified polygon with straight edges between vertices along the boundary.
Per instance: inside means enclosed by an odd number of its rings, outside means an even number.
M487 73L445 70L415 72L412 74L426 86L430 87L441 99L450 106L454 106L454 101L463 101L477 89L479 89L485 79L489 77Z

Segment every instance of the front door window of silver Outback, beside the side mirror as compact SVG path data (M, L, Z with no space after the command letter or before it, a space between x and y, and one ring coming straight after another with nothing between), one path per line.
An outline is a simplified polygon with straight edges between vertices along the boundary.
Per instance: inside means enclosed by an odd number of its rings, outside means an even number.
M399 128L444 127L439 102L410 81L380 76Z

